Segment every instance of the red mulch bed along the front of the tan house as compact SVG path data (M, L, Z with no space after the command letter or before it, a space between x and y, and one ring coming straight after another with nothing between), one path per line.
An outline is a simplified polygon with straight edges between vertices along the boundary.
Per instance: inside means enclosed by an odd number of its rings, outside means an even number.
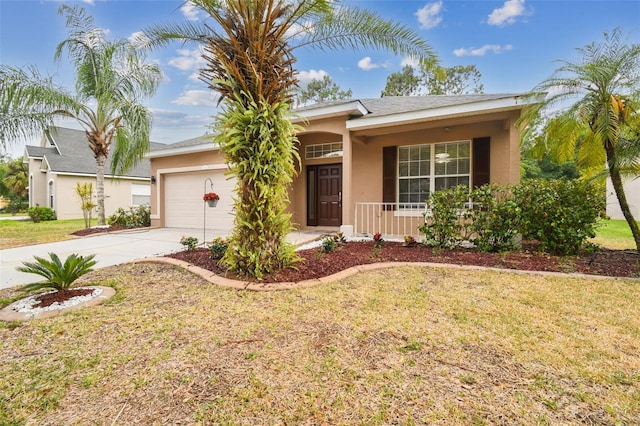
M493 268L519 269L527 271L552 271L583 273L615 277L640 277L640 255L631 250L601 249L597 254L583 253L578 256L551 256L536 251L529 243L520 251L512 253L480 253L472 249L439 250L424 246L403 247L399 242L385 242L382 249L373 248L373 242L349 242L328 254L320 249L298 252L304 259L297 269L284 269L269 276L263 282L299 282L321 278L352 266L376 262L433 262L455 265L476 265ZM209 257L207 249L192 252L182 251L169 257L184 260L200 268L228 278L243 279L218 266ZM246 278L244 278L246 279Z

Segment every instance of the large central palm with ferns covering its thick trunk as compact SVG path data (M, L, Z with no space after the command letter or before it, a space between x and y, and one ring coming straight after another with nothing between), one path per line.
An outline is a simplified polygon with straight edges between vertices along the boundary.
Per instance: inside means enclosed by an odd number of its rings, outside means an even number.
M432 58L413 31L331 0L192 0L215 24L157 26L150 43L195 42L204 48L201 78L224 100L215 141L237 179L235 227L222 261L260 279L296 261L288 187L296 173L290 108L297 48L387 48Z

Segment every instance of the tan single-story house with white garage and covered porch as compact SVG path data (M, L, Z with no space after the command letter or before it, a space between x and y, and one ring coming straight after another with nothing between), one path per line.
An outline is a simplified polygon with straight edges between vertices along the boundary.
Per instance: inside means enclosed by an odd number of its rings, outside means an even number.
M293 222L346 235L417 235L431 192L519 182L515 122L526 102L524 94L384 97L296 110L304 130L290 191ZM148 157L152 225L231 228L234 182L211 137ZM216 208L202 200L211 190L221 198Z

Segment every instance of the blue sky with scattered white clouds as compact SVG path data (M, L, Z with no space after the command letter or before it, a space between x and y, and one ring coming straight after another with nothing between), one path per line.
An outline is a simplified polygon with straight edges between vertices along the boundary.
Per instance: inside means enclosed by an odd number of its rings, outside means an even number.
M111 38L130 37L152 24L203 19L183 1L86 0L79 3L96 26ZM621 27L629 43L640 43L640 0L501 0L424 1L352 0L415 29L433 48L442 65L475 65L486 93L531 90L558 67L556 60L577 59L576 48L602 39ZM73 74L64 61L53 61L55 46L66 38L60 1L0 0L0 62L35 65L65 87ZM154 112L152 140L162 143L202 135L215 115L215 97L197 80L200 53L175 44L154 51L164 82L147 100ZM379 97L386 77L400 71L407 58L390 52L322 52L296 50L296 68L304 83L329 75L355 98ZM63 126L76 127L72 122ZM7 151L20 154L24 143ZM0 148L0 152L1 148Z

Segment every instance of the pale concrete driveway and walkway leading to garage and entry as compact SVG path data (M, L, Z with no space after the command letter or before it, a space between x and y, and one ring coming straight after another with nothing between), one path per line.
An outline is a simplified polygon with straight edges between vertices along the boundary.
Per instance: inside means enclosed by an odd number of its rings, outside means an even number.
M227 230L207 229L206 241L225 237L227 232ZM42 281L39 275L16 270L16 267L22 266L22 262L33 261L33 256L48 259L49 253L56 253L64 261L72 253L83 256L95 254L95 260L98 261L95 268L104 268L180 251L184 248L180 244L180 238L183 235L197 237L203 241L202 230L156 228L98 234L56 243L0 250L0 289ZM320 232L292 232L287 236L287 240L300 245L313 241L320 235Z

